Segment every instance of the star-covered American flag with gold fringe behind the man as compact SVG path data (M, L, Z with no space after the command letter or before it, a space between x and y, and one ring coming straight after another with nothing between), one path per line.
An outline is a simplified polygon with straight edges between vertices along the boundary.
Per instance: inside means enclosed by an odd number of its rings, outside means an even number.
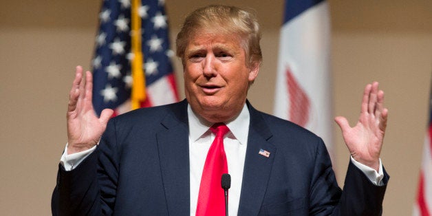
M98 115L178 101L168 36L163 0L103 1L92 62Z

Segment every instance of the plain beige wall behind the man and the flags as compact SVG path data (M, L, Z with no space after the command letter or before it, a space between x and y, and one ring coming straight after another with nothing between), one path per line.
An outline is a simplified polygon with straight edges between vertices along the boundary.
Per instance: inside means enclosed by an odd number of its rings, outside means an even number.
M166 0L173 35L187 12L216 3L178 2ZM257 10L264 64L249 98L271 113L283 1L217 2ZM382 151L391 175L384 215L410 215L429 105L432 1L330 0L330 6L334 115L354 122L363 86L380 81L390 110ZM98 1L1 1L1 215L50 215L67 94L74 66L89 68L98 10ZM179 61L175 65L182 83ZM348 153L336 125L334 134L343 183Z

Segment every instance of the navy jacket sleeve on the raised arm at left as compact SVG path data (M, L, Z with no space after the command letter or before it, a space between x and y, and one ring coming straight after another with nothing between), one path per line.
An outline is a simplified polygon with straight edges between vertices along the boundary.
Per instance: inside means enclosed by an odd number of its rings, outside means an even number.
M58 165L52 215L112 215L118 161L115 124L110 120L96 150L74 170Z

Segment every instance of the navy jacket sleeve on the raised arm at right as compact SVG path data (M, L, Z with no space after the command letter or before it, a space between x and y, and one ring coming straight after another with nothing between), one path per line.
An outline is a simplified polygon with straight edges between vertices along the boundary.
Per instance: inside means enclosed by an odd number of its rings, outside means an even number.
M336 182L330 156L321 141L316 151L312 188L310 191L310 215L382 215L382 200L389 180L376 186L367 176L349 162L345 185L341 191Z

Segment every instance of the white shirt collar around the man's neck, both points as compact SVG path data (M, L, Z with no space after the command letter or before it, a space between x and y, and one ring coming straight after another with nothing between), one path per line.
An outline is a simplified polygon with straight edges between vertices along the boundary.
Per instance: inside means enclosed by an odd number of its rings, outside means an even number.
M204 133L210 129L213 123L204 120L197 114L195 114L188 104L188 122L189 122L189 137L193 142L198 140ZM240 144L246 144L248 142L250 114L247 105L243 106L241 112L237 118L230 122L224 122L225 125L233 133L233 136L240 142Z

